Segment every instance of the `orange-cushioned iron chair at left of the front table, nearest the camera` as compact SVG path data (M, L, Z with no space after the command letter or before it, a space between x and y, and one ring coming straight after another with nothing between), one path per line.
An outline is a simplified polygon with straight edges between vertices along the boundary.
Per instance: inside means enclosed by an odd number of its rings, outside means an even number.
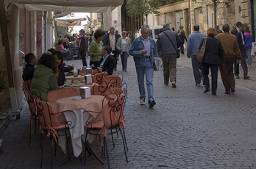
M38 109L38 117L40 119L40 132L41 132L41 162L40 168L43 165L43 139L46 134L47 137L51 139L51 168L53 162L53 144L54 140L57 143L57 137L65 136L66 143L68 146L68 134L69 134L69 123L68 122L60 122L59 116L60 112L56 112L54 107L50 102L36 100L36 105ZM74 126L73 126L74 127ZM59 132L65 132L65 134L60 134ZM68 149L68 157L70 155Z

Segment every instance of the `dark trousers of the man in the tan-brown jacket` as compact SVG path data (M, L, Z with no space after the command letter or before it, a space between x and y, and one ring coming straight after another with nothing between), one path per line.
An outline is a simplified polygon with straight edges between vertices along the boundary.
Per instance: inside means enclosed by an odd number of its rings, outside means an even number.
M233 58L221 56L221 81L227 93L231 88L235 88L235 78L233 73Z

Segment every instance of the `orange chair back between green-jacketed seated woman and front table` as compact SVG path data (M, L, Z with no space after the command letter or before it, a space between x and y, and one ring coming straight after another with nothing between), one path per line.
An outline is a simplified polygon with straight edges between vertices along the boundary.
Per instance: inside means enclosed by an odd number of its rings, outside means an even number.
M71 87L63 87L60 90L53 90L47 95L47 101L51 104L54 104L55 101L59 100L60 98L68 98L72 96L77 96L77 93Z

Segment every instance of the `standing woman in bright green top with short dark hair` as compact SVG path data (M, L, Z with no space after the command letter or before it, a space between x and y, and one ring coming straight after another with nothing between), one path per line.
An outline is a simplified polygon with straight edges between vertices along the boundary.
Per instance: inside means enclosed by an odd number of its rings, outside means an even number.
M90 66L94 65L95 67L99 67L99 60L102 59L102 40L103 40L103 36L105 35L105 32L102 31L102 29L97 29L94 32L94 38L95 40L93 40L90 43L90 47L88 50L88 55L90 56Z

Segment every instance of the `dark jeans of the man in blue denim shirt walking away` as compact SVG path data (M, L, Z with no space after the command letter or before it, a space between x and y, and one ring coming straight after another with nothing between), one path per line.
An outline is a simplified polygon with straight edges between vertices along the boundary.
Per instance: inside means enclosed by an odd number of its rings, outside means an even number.
M196 84L201 83L202 78L202 63L197 60L197 55L191 55L192 67L193 67L193 76L195 78Z

